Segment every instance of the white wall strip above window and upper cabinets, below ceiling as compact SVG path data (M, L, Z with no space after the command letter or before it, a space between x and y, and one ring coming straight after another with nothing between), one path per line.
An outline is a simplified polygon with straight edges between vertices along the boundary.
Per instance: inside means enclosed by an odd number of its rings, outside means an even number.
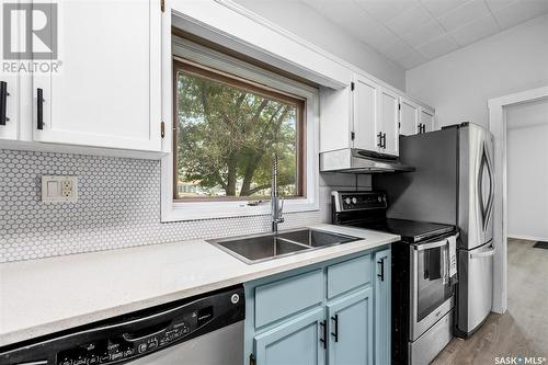
M236 0L285 30L389 84L406 90L406 71L299 1Z

